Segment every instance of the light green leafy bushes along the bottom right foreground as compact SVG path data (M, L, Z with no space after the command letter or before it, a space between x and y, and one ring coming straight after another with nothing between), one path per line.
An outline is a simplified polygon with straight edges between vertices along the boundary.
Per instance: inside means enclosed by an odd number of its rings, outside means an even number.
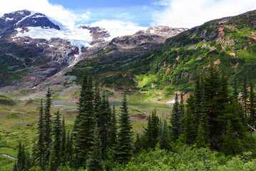
M156 148L140 153L128 165L113 170L256 170L256 160L252 160L251 155L251 152L245 152L243 155L225 157L208 148L186 146L178 149L178 152L167 152Z

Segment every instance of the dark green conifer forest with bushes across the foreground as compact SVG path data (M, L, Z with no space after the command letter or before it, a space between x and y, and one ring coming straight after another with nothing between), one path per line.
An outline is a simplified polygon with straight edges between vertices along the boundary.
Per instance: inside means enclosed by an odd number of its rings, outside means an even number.
M236 79L230 84L225 68L211 62L188 100L176 93L170 120L155 110L135 134L127 92L118 113L85 73L73 128L61 113L51 115L48 88L38 138L31 152L19 142L13 170L256 170L254 83L245 75L242 90Z

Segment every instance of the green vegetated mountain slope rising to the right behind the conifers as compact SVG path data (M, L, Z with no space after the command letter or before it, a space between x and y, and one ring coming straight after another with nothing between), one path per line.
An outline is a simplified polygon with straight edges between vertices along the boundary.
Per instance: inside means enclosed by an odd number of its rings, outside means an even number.
M168 38L160 48L143 56L108 48L97 58L77 63L68 75L81 79L83 68L101 83L132 86L140 90L190 91L196 75L205 73L210 61L227 69L230 81L247 73L256 78L256 11L209 21ZM111 46L113 47L113 46ZM78 79L78 80L79 80Z

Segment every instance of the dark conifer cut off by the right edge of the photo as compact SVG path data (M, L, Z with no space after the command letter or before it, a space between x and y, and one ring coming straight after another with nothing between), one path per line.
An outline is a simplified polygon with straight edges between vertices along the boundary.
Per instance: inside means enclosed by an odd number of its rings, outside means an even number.
M255 126L256 121L256 97L254 92L254 86L252 81L250 81L250 104L249 104L249 111L250 111L250 118L249 118L249 124L251 126Z

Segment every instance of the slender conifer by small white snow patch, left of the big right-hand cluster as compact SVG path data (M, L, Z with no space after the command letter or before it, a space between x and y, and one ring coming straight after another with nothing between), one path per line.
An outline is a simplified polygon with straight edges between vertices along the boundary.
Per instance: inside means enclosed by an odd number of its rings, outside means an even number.
M175 95L175 103L173 105L173 113L170 118L170 125L171 125L171 135L173 140L177 140L180 135L181 130L181 118L180 118L180 111L179 111L179 101L178 95Z

